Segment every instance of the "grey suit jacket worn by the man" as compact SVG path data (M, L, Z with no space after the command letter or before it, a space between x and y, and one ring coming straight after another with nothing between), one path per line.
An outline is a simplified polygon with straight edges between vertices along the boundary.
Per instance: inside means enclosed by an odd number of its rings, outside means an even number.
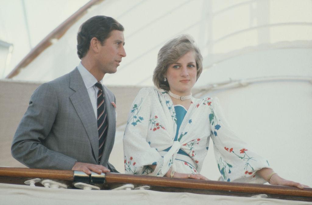
M100 164L117 172L108 158L116 132L114 94L104 88L108 131ZM97 121L78 69L39 86L14 135L12 156L30 168L71 170L75 162L98 164Z

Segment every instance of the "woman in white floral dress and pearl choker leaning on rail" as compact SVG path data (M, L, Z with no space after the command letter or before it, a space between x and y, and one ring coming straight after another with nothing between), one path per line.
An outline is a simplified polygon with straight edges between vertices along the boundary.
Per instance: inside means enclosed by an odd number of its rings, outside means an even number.
M181 35L158 53L153 81L136 96L124 133L128 174L204 179L202 164L212 139L218 169L225 181L288 185L266 159L253 152L230 129L217 98L192 97L202 72L202 55L192 37Z

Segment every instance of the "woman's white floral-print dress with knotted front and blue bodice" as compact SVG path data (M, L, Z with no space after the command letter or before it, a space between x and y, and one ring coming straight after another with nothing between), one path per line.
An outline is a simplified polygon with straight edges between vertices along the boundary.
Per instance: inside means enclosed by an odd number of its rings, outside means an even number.
M231 131L218 99L191 100L179 123L166 91L155 88L139 91L124 133L125 173L164 176L170 167L179 173L200 173L211 137L225 181L266 182L255 172L269 167L268 162ZM149 165L157 166L153 170Z

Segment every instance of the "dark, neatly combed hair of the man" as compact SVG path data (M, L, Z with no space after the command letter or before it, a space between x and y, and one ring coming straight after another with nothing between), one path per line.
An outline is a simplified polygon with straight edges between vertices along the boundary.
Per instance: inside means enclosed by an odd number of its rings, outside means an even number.
M110 37L112 30L124 31L124 27L114 18L107 16L94 16L83 23L77 34L78 57L80 59L85 57L93 37L97 38L103 45L105 39Z

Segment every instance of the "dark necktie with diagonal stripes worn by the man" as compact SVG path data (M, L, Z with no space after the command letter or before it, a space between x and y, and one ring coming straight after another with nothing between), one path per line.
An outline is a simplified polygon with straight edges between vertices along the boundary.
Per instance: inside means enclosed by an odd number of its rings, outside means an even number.
M106 109L104 103L103 87L100 82L95 83L95 86L99 89L97 94L97 123L99 132L99 163L103 155L104 143L107 135L108 120L106 118Z

